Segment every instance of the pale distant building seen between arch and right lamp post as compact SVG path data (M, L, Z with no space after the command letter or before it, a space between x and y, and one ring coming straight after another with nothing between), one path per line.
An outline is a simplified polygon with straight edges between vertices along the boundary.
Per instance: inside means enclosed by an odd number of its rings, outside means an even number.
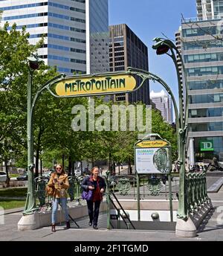
M161 115L167 123L172 124L172 100L164 90L161 92L150 92L150 99L155 103L155 108L161 111Z

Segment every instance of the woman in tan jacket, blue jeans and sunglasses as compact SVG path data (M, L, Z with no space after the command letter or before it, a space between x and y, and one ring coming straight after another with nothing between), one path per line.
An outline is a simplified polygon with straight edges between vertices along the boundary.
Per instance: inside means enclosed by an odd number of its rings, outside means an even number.
M54 188L53 195L53 210L52 210L52 232L56 231L56 214L58 204L62 206L62 210L65 213L66 228L71 228L68 207L67 207L67 192L69 188L68 175L65 174L62 164L56 164L56 170L51 174L51 179L48 182L48 186Z

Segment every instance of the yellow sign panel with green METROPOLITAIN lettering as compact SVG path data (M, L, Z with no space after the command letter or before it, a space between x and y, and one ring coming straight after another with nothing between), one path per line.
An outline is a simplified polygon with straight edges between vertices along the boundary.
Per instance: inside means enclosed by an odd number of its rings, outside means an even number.
M128 74L104 77L69 78L56 85L58 96L106 95L106 93L131 92L136 80Z

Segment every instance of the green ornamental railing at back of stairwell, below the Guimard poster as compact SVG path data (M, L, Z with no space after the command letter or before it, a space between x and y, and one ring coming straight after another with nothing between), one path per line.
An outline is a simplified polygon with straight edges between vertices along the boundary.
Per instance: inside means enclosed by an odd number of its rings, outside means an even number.
M169 200L169 209L170 209L170 220L173 221L172 214L172 184L178 179L176 174L172 173L166 176L164 175L142 175L137 176L133 175L122 175L122 176L111 176L109 172L106 173L104 177L106 180L106 199L107 199L107 228L110 229L112 226L110 208L111 205L114 206L112 197L115 201L120 203L120 198L134 198L146 199L146 196L158 196L160 194L166 195L166 199ZM112 197L111 197L112 196ZM115 208L117 211L118 220L120 220L120 209ZM138 207L138 215L140 208ZM115 215L115 214L111 214Z

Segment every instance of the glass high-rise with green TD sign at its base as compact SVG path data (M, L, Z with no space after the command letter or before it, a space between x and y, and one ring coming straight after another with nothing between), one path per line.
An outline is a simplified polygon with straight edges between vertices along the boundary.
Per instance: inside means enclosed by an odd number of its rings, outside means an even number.
M223 1L205 2L212 7L213 16L184 19L176 33L189 92L187 155L191 164L213 157L223 161L223 36L219 18Z

